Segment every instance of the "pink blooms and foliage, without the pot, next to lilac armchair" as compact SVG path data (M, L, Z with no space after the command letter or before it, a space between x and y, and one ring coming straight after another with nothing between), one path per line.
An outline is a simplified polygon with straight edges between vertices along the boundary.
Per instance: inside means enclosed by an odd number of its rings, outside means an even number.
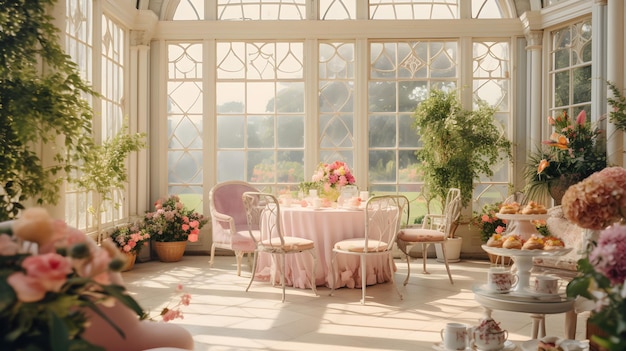
M146 213L144 224L157 242L196 242L200 229L208 222L202 214L185 207L177 195L157 200L154 209Z

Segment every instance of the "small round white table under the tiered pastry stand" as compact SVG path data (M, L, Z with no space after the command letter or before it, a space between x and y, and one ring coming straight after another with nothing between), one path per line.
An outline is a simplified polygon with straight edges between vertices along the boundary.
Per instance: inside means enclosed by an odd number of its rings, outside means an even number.
M506 294L495 293L483 286L473 289L474 299L483 306L487 317L492 310L530 313L533 320L530 337L537 339L546 336L546 314L565 313L565 334L568 339L576 337L576 313L574 299L554 294L518 294L515 291Z

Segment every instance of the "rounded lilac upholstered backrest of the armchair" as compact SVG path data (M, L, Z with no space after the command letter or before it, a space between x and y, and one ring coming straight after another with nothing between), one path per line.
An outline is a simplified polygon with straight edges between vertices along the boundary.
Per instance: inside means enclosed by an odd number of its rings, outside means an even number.
M216 184L209 192L211 215L214 212L225 214L233 218L235 225L245 224L246 210L241 202L241 195L246 191L258 189L250 183L238 180Z

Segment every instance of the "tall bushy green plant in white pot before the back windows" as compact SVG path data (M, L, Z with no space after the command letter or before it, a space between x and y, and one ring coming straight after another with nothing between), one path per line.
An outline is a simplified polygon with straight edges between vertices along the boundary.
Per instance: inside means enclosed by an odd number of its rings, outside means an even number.
M464 109L456 91L431 90L413 114L413 127L422 148L416 152L428 198L444 203L450 188L461 189L465 207L472 199L474 181L493 175L491 167L511 157L511 142L496 125L496 109L477 100L474 110ZM443 206L442 206L443 208ZM461 238L450 239L448 256L460 255ZM458 257L458 256L457 256Z

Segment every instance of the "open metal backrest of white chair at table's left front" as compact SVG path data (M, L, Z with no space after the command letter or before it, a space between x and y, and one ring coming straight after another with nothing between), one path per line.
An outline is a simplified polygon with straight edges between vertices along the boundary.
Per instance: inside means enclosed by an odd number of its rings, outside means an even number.
M284 246L278 199L272 194L258 191L245 192L241 199L246 210L248 230L257 246L261 244L266 249L272 247L279 249ZM279 238L279 240L270 240L272 238Z

